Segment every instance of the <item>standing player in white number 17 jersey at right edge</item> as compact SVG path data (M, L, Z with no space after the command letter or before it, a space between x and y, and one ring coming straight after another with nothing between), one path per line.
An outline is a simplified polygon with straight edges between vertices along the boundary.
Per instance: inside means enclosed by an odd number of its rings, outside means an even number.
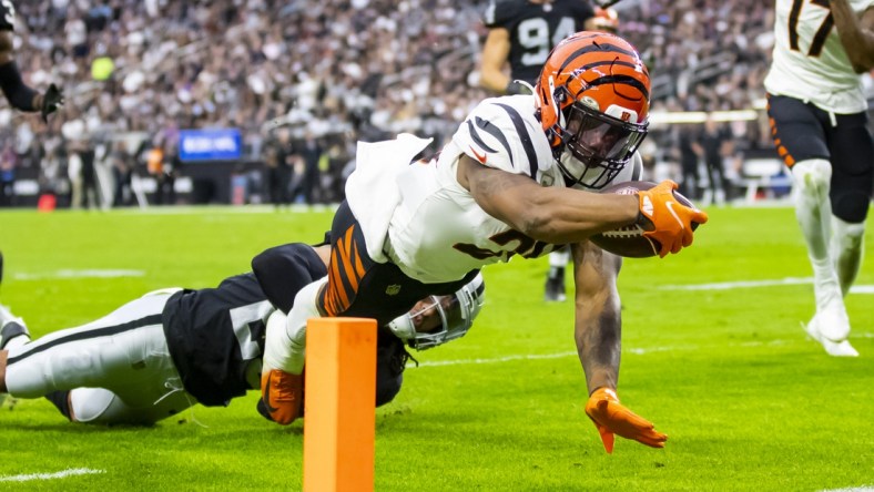
M874 142L858 74L874 68L874 0L778 0L764 81L771 134L792 172L813 266L806 325L831 356L855 357L844 296L858 274L874 192Z

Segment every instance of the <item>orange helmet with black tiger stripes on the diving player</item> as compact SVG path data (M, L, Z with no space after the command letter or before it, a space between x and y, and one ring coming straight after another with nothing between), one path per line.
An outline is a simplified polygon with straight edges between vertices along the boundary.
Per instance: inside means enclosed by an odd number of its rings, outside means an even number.
M583 31L558 43L535 96L570 186L603 187L647 136L649 71L634 47L616 34Z

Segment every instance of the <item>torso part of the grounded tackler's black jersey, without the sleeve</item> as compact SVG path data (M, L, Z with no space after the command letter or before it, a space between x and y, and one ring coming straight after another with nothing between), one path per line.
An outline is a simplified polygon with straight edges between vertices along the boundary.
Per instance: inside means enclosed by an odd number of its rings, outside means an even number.
M251 389L246 368L264 353L267 317L274 310L252 274L171 296L162 320L185 390L205 406L245 394Z

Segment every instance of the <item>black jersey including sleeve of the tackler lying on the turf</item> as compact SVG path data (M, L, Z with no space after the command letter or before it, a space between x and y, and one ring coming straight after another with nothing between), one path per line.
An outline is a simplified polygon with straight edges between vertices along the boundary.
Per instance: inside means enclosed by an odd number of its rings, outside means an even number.
M170 297L162 321L182 383L199 402L227 404L250 388L246 369L264 353L267 317L287 312L297 291L327 274L303 244L270 248L252 262L254 274L226 278L218 287Z

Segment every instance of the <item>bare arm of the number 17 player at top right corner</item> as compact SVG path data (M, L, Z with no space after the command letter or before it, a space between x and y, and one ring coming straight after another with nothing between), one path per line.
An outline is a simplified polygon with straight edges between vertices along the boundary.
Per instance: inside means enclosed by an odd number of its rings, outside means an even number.
M832 17L841 44L856 73L874 69L874 7L856 17L847 0L832 0Z

